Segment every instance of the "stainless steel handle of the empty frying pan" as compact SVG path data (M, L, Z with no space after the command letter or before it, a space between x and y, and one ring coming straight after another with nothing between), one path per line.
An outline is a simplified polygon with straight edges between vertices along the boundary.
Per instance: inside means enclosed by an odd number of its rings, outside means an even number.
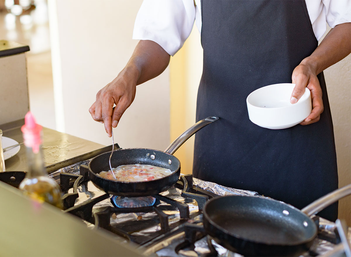
M313 203L304 207L301 211L306 213L308 216L311 216L313 214L316 214L317 212L322 211L325 207L331 205L332 203L335 203L337 200L348 195L351 195L351 184L337 189L315 200Z

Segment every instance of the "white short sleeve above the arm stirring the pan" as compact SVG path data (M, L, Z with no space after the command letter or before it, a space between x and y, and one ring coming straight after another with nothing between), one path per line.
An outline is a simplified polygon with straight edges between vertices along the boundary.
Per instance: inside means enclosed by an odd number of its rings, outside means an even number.
M174 55L191 33L193 0L144 0L134 23L133 39L152 40Z

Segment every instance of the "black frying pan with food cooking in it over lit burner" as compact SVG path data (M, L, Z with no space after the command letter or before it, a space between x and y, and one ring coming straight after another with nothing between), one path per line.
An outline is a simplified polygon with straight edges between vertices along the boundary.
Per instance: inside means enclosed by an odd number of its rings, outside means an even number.
M111 166L113 168L127 164L148 164L170 169L172 174L167 177L146 182L119 182L101 178L97 173L110 170L108 163L111 154L110 151L100 154L90 161L88 165L90 180L99 189L110 193L111 195L139 197L152 196L163 192L176 184L180 174L180 162L178 158L174 157L172 154L194 133L218 119L218 117L211 116L198 121L195 125L190 127L190 129L174 140L164 152L152 149L135 148L116 150L112 154Z

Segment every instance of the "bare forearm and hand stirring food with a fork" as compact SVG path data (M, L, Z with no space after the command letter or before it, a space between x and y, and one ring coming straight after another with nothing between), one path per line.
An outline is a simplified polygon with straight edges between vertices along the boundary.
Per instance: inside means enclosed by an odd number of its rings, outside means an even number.
M94 120L104 123L109 137L111 126L117 126L122 114L132 104L136 85L160 75L169 61L170 55L161 46L153 41L141 40L124 69L99 90L89 112Z

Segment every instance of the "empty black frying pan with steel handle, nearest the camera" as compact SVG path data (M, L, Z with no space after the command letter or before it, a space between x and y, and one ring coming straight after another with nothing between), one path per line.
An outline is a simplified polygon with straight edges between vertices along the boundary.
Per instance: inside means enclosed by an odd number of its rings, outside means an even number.
M317 236L318 228L310 216L350 194L351 184L301 211L270 198L212 198L203 209L204 227L217 243L244 256L299 256Z

